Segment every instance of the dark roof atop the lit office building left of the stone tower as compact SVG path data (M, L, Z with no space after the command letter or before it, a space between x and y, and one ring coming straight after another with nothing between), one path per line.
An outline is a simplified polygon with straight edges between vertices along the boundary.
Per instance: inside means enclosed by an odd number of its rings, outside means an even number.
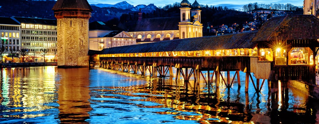
M56 19L43 19L43 18L26 18L26 17L13 17L20 23L26 24L45 24L45 25L56 25Z

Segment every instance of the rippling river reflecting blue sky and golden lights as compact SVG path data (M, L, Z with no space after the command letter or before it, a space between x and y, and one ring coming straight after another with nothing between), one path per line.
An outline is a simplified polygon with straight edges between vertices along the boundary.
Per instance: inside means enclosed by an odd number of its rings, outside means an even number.
M245 93L243 72L231 88L101 68L4 68L0 76L0 123L319 122L318 100L289 87L276 101L267 81Z

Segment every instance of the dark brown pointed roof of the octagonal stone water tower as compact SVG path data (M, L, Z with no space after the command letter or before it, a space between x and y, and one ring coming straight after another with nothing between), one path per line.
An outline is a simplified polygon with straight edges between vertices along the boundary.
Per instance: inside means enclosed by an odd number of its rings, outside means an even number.
M85 10L93 11L87 0L57 0L52 10Z

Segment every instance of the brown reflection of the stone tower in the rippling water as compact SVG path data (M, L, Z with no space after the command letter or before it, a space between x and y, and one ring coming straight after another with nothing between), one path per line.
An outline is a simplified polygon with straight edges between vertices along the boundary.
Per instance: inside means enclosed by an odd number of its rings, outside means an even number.
M61 123L87 123L92 110L89 90L89 69L57 69L59 119Z

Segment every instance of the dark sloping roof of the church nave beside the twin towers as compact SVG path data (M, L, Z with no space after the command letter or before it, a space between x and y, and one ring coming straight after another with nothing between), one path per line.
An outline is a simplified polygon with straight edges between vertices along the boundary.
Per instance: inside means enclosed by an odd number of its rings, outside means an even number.
M129 31L178 30L180 21L180 17L143 18Z

